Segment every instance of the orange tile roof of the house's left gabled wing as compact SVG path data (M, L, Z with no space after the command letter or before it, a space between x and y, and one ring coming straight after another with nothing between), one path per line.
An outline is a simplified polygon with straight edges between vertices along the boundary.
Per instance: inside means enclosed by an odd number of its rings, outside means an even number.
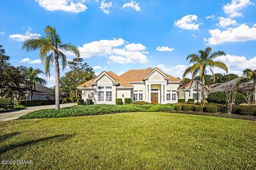
M101 72L97 77L89 80L89 81L86 81L85 83L79 85L78 87L92 87L92 84L91 82L93 82L95 79L97 79L98 77L100 77L100 75L102 73L104 73L105 71ZM115 81L119 82L119 85L122 86L122 87L133 87L132 84L130 84L129 82L123 80L121 77L119 77L117 74L115 74L114 72L112 71L109 71L109 72L105 72L107 73L112 79L114 79Z

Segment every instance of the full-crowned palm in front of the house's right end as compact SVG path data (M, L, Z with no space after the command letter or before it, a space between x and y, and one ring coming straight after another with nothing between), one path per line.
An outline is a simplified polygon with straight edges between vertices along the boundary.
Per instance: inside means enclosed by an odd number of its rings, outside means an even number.
M191 73L192 74L191 80L194 80L196 75L199 73L199 80L202 81L202 87L203 87L202 92L201 92L201 95L202 95L201 103L202 104L204 104L204 100L205 100L205 91L204 91L205 88L204 87L205 87L206 70L211 71L212 77L213 77L213 82L215 81L215 76L212 71L212 69L214 67L219 67L220 69L223 69L226 72L228 72L228 68L227 68L226 64L224 64L220 61L214 61L214 58L217 58L219 56L226 55L226 54L222 51L211 53L211 50L212 50L211 47L207 47L205 50L199 50L198 51L199 54L188 55L187 60L190 59L189 64L193 64L193 65L189 66L183 73L183 78L185 78L186 75Z

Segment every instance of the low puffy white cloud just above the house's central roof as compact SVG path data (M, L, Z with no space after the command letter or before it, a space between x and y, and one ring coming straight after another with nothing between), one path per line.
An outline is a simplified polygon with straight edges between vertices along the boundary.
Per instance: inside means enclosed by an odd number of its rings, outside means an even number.
M136 51L129 51L124 48L115 48L113 49L113 55L108 57L109 61L112 63L147 63L148 59L145 54Z

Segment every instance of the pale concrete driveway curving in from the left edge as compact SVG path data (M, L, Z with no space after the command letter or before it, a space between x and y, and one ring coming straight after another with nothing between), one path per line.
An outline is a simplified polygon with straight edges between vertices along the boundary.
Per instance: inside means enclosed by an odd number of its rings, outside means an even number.
M65 103L65 104L60 104L60 107L70 107L70 106L75 106L77 103ZM27 113L33 112L33 111L38 111L40 109L46 109L46 108L55 108L55 105L45 105L45 106L31 106L31 107L26 107L25 109L21 110L14 110L14 111L6 111L1 113L0 112L0 121L9 121L9 120L14 120L19 118L22 115L26 115Z

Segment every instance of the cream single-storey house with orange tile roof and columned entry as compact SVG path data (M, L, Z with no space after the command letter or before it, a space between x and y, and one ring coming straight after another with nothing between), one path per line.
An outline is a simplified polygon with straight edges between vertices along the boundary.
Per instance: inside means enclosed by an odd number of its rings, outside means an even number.
M129 70L122 75L101 72L97 77L81 84L82 99L92 99L94 104L115 104L116 98L149 103L177 103L178 99L199 99L199 81L181 83L177 78L157 67ZM199 85L200 86L200 85Z

